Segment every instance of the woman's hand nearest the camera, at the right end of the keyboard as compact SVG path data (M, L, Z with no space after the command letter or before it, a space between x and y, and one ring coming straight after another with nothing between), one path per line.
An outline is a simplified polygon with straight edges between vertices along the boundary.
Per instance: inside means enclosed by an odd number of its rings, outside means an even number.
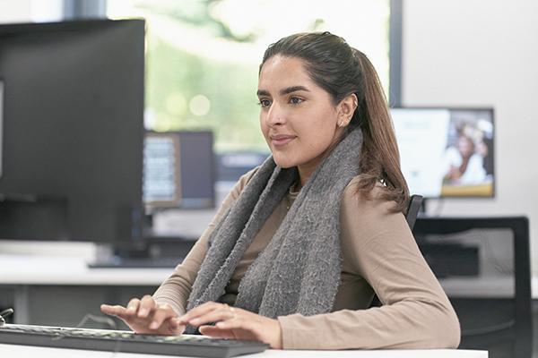
M207 325L212 322L215 322L214 326ZM225 303L201 304L179 317L178 324L199 327L205 336L258 340L273 349L282 349L282 328L278 320Z

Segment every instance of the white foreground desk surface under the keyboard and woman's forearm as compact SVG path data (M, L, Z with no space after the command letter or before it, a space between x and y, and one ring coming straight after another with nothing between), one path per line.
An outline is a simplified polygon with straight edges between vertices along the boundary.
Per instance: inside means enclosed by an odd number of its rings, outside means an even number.
M48 348L30 345L2 345L0 344L0 356L9 358L110 358L110 352L86 351L78 349ZM172 357L172 355L153 354L130 354L117 353L117 358L160 358ZM175 358L182 358L174 355ZM468 351L451 349L430 350L383 350L383 351L279 351L268 350L261 354L240 355L240 357L252 358L487 358L486 351ZM185 358L185 357L183 357Z

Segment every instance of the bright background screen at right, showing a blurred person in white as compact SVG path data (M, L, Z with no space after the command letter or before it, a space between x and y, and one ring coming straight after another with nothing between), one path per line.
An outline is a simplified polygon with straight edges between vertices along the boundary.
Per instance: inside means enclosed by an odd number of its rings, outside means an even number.
M491 108L391 108L402 172L425 198L493 197Z

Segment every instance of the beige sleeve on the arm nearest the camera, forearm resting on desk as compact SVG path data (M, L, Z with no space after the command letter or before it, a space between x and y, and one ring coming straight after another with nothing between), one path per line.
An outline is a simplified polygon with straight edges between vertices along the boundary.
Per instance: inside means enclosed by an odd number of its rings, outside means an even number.
M343 260L373 287L382 307L279 317L284 349L456 348L460 326L394 202L343 195ZM318 339L317 337L324 337Z

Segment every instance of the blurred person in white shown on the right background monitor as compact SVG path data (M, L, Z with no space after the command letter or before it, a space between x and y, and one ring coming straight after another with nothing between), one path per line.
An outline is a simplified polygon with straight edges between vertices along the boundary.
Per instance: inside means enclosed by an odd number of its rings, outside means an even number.
M487 153L484 152L485 155ZM484 156L477 152L470 136L460 133L456 147L449 147L445 153L447 174L444 183L449 185L484 183L487 175L484 169Z

